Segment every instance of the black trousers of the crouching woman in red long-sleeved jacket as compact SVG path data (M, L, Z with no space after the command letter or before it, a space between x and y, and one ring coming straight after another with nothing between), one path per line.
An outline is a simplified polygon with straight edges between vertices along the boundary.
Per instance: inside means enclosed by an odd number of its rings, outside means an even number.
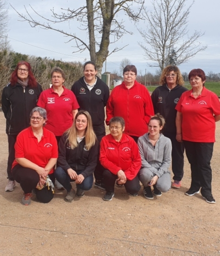
M104 177L105 190L114 192L115 182L116 182L116 179L118 178L117 175L113 174L108 169L104 169L103 177ZM127 179L126 183L124 184L124 187L126 191L130 194L134 194L138 192L141 189L138 175L132 180Z

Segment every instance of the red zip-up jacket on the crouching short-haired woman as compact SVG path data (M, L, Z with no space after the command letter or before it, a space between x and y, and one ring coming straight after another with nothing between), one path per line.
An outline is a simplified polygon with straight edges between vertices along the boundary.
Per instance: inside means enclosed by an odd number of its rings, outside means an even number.
M123 134L117 142L111 134L104 136L100 143L100 163L113 174L123 170L128 180L136 177L141 168L141 156L136 142Z

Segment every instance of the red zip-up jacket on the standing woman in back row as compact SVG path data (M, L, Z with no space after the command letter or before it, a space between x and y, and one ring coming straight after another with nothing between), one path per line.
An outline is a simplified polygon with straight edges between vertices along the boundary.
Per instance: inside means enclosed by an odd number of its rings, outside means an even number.
M148 123L154 115L150 94L144 85L135 81L127 89L124 82L116 86L106 105L106 124L113 117L122 117L125 121L124 132L130 136L140 137L148 132Z

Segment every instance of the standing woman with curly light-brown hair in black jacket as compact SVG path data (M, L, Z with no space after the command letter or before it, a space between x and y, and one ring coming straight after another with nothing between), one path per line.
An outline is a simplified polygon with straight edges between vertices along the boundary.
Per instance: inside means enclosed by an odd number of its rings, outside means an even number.
M174 181L172 188L181 187L184 165L184 145L176 140L176 104L183 92L188 91L184 85L181 72L177 66L166 66L161 74L160 84L151 94L155 113L160 113L166 120L162 133L172 142L172 171Z

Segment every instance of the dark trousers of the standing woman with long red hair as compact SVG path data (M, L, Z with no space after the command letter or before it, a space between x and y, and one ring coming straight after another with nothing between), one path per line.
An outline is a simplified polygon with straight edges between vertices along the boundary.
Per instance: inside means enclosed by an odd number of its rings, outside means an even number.
M8 158L7 158L7 177L9 180L14 180L12 175L12 164L15 159L14 144L18 135L7 135L8 141Z

